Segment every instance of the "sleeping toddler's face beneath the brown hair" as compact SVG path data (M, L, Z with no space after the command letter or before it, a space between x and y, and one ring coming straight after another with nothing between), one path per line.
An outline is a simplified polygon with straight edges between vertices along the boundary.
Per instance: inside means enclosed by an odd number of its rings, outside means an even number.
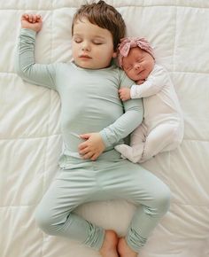
M110 66L116 57L111 32L85 18L74 23L72 51L75 64L88 69Z

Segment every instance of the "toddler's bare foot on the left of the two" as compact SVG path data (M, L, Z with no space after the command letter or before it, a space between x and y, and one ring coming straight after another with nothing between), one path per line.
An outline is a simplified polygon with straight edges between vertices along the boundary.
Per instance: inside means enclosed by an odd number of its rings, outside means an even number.
M117 252L117 245L119 238L113 230L106 230L104 236L104 243L100 249L103 257L119 257Z

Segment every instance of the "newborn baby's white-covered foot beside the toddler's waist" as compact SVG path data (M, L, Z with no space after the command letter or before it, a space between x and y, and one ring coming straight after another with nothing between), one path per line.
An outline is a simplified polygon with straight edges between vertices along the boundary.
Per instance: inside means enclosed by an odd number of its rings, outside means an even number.
M142 158L143 145L135 145L131 147L127 144L116 145L115 150L121 153L123 159L128 159L134 163L138 162Z

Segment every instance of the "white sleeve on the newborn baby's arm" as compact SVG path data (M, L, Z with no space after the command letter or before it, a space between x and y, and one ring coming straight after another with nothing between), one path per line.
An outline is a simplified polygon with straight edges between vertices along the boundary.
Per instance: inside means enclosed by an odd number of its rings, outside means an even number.
M155 66L143 84L131 87L131 98L151 97L157 94L166 85L166 79L165 69L161 66Z

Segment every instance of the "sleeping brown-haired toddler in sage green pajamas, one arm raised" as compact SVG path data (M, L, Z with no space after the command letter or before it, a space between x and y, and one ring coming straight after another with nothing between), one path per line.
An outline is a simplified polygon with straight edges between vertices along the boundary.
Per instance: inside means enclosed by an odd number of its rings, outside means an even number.
M17 72L26 81L57 90L61 101L64 151L58 175L35 210L40 228L77 240L103 257L135 257L169 207L166 184L138 164L120 158L114 146L143 120L142 99L122 103L118 90L133 81L112 62L125 24L104 1L84 4L74 14L74 60L35 63L35 35L40 15L24 14ZM74 213L83 203L127 199L136 206L125 238Z

